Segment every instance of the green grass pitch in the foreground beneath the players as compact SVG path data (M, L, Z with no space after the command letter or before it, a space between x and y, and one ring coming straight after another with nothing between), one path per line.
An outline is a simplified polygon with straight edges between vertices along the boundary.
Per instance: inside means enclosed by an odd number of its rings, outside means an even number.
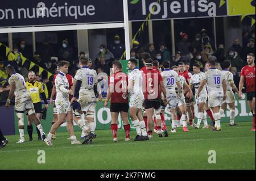
M71 145L68 133L57 133L52 147L36 140L16 144L19 136L7 136L9 144L0 150L0 169L255 169L255 132L251 123L240 127L222 124L221 132L181 128L170 137L144 142L125 142L118 130L118 143L110 130L96 131L91 145ZM80 137L80 132L76 132ZM131 132L131 138L135 132ZM26 140L28 136L26 135ZM38 163L38 150L46 153L46 163ZM216 163L209 164L209 150L216 151Z

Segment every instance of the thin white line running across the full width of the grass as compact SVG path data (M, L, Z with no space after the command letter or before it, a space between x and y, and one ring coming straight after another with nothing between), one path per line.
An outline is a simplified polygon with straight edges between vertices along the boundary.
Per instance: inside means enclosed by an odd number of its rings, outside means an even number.
M245 137L229 137L229 138L209 138L209 139L193 139L193 140L168 140L168 141L160 141L160 140L155 140L155 141L150 141L150 143L153 143L153 144L162 144L163 142L184 142L184 141L211 141L211 140L229 140L229 139L236 139L236 138L254 138L254 136L245 136ZM125 142L121 142L122 144L125 144ZM127 144L129 145L135 145L135 144L138 144L138 142L128 142ZM111 144L111 146L118 146L119 144ZM44 145L46 146L46 145ZM49 149L49 150L55 150L55 149L69 149L69 148L92 148L92 147L98 147L98 146L110 146L110 144L103 144L103 145L80 145L80 146L61 146L61 147L58 147L58 146L46 146L44 148L38 148L38 149L27 149L27 150L8 150L8 151L0 151L0 153L10 153L10 152L20 152L20 151L32 151L32 150L40 150L40 149ZM253 152L255 153L255 151Z

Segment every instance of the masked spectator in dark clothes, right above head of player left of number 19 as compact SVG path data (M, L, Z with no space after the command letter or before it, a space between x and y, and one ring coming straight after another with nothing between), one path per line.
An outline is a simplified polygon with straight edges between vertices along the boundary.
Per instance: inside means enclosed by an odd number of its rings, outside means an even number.
M62 41L62 47L59 50L59 60L66 60L73 65L73 48L69 46L68 40Z

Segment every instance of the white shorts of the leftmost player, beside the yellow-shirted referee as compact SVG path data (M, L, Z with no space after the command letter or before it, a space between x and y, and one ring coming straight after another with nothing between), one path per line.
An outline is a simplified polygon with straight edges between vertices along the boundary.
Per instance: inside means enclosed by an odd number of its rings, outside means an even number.
M31 96L29 94L25 94L20 97L15 98L15 110L16 111L25 111L34 109L34 105L32 103Z

